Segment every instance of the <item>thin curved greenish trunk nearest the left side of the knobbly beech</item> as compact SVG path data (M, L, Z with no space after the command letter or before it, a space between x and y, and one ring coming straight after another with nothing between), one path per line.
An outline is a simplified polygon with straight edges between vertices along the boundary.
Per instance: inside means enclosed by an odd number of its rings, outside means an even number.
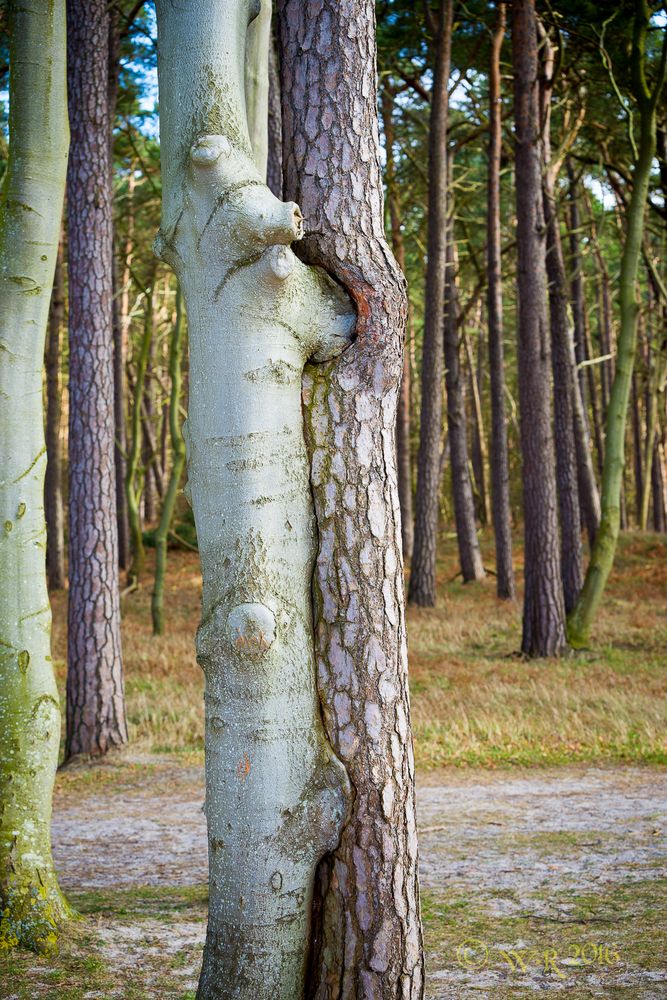
M169 435L171 439L172 463L169 483L162 504L160 523L155 532L155 584L151 601L151 616L153 619L153 635L164 633L164 580L167 569L167 542L171 522L174 517L178 489L185 468L185 440L181 430L181 396L183 393L182 353L184 343L184 327L182 296L180 288L176 291L176 323L169 345L169 378L171 391L169 393Z

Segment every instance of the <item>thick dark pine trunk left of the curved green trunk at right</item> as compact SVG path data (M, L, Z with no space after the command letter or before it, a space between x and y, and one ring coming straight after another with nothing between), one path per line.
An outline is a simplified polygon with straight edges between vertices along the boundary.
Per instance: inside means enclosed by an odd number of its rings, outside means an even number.
M523 458L525 591L522 651L566 647L552 433L535 0L512 4L516 129L519 405Z

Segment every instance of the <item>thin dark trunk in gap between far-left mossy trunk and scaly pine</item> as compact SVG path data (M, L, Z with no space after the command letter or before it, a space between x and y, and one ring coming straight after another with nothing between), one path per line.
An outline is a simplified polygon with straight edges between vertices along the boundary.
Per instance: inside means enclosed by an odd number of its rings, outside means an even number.
M46 342L46 578L50 590L65 586L65 515L63 510L62 450L60 446L61 353L60 331L65 322L65 275L62 245L58 248Z

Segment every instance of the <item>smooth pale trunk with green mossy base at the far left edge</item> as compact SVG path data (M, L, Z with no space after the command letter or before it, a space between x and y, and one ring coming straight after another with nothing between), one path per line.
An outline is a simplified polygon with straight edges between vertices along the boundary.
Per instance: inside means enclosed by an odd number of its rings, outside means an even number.
M0 213L0 950L70 911L51 857L60 705L46 589L42 360L67 165L64 0L12 2Z

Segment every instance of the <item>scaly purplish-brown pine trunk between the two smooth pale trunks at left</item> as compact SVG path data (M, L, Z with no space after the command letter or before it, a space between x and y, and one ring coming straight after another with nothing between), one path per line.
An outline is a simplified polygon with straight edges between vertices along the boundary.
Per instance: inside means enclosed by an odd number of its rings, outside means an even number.
M69 0L69 609L66 757L127 740L114 468L106 0Z

